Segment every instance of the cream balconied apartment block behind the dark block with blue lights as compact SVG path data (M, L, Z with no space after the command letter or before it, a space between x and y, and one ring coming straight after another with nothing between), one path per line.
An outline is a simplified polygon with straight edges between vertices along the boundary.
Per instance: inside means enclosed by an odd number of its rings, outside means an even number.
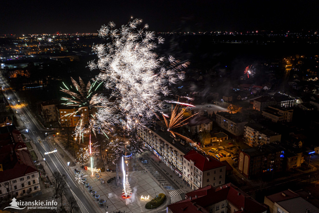
M269 130L259 123L249 122L245 124L244 141L249 146L260 146L272 142L278 142L281 134Z

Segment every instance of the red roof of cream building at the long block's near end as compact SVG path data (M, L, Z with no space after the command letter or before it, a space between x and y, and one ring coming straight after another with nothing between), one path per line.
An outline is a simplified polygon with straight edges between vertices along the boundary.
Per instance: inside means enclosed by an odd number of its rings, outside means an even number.
M194 166L196 166L201 171L212 170L215 168L225 166L225 164L221 163L215 158L211 156L205 157L204 155L198 153L195 150L189 151L183 157L188 161L192 160L194 162Z

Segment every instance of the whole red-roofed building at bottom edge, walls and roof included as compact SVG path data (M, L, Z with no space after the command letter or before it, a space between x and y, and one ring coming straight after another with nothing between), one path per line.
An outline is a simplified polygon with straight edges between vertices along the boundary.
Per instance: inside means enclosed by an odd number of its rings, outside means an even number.
M167 205L167 213L267 213L267 207L235 185L212 185L185 194L185 199Z

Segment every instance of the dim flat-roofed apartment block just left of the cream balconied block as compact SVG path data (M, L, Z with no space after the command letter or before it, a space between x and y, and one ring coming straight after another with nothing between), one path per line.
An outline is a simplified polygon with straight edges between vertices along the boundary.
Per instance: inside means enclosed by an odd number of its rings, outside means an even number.
M240 113L218 112L216 113L216 123L224 130L238 136L243 134L244 126L248 121Z

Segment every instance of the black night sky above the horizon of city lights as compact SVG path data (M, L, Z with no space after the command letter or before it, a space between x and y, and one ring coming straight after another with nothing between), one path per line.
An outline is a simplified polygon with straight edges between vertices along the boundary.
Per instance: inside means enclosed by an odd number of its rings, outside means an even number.
M319 2L308 1L1 1L0 34L95 33L141 18L156 32L317 30Z

